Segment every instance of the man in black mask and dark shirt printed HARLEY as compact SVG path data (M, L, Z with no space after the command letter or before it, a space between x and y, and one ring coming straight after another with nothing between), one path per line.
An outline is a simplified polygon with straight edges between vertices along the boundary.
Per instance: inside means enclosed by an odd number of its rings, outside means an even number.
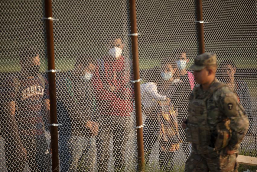
M43 122L44 118L49 119L50 110L47 80L39 74L40 57L33 48L22 52L20 65L21 71L13 80L13 96L9 101L15 107L13 110L27 152L28 167L31 171L50 171L50 151Z

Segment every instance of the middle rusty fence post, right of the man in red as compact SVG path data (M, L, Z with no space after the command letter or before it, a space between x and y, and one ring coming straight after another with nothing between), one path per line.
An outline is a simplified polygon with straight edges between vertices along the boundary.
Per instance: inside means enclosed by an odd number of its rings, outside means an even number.
M136 112L136 129L137 129L137 147L138 147L138 165L139 170L145 170L144 143L143 143L143 123L142 108L140 94L140 76L139 76L139 59L138 59L138 33L136 21L136 2L129 1L130 25L131 25L131 41L132 41L132 57L133 57L133 74L134 74L134 90L135 90L135 112Z

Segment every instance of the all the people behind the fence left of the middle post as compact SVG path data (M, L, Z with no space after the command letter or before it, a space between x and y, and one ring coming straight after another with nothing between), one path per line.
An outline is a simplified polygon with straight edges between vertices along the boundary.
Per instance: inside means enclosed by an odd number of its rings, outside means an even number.
M56 74L61 171L108 171L111 139L114 170L125 170L133 111L130 63L122 56L121 38L109 40L107 47L108 56L81 54L71 71ZM40 74L39 54L24 49L21 71L1 83L1 136L8 171L51 170L49 86Z

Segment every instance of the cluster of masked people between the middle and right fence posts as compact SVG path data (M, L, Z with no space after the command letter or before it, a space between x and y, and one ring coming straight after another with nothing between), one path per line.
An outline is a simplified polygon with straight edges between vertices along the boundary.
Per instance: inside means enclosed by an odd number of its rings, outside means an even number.
M144 127L145 161L155 142L159 142L160 169L169 171L174 166L175 152L182 147L185 156L190 155L190 144L181 128L187 117L188 98L194 88L194 76L186 70L186 51L176 51L174 56L161 60L145 76L141 84L142 112L147 116Z

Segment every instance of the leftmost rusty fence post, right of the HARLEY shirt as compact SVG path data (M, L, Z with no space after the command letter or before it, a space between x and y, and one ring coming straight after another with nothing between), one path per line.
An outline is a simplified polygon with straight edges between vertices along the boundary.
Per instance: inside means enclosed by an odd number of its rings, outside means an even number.
M47 33L47 59L48 59L48 78L50 96L50 133L52 148L52 171L59 171L58 156L58 124L56 106L56 87L55 87L55 64L54 64L54 32L52 18L52 0L45 0L45 19Z

